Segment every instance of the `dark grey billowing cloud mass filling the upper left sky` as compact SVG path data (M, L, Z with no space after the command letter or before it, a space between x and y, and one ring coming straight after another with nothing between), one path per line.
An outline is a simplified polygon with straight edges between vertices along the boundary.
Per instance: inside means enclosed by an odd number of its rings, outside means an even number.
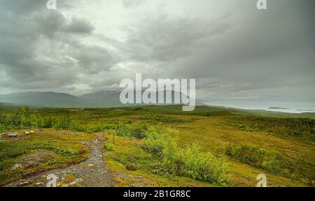
M91 22L67 19L58 10L47 10L45 2L1 1L0 69L6 75L1 87L58 91L80 82L80 75L112 64L104 47L81 43L95 29Z

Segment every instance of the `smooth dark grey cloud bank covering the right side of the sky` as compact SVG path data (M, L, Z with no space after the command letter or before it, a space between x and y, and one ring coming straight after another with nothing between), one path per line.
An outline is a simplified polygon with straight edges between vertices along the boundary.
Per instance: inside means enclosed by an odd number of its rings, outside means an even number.
M307 6L301 6L302 1L270 2L269 10L260 12L240 8L240 12L247 11L248 17L241 15L238 22L228 20L230 29L221 33L224 37L207 38L202 40L204 45L190 45L190 55L168 67L172 75L196 77L202 83L201 89L209 89L207 82L221 83L212 89L216 98L251 93L278 101L281 97L314 101L314 13L303 9L314 3L303 1ZM156 33L154 29L152 32ZM265 92L272 90L276 91L269 95Z

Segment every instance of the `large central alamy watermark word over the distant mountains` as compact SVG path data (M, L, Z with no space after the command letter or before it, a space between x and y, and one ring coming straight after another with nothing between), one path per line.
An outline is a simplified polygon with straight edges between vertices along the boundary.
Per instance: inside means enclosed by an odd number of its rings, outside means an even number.
M153 79L142 80L142 74L136 73L136 83L124 79L120 87L123 104L183 104L183 111L195 110L196 80L195 79ZM189 87L189 88L188 88ZM143 91L143 89L146 89Z

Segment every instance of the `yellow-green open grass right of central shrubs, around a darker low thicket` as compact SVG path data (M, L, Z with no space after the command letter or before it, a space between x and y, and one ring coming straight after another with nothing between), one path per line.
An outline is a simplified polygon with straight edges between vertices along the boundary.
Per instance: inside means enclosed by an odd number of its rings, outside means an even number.
M246 132L239 128L227 126L223 117L210 117L195 120L174 126L179 130L179 145L185 147L196 142L204 148L204 151L211 151L213 154L223 154L225 147L232 144L258 145L268 150L279 151L280 154L298 163L299 160L307 161L310 167L307 168L310 174L314 175L315 170L315 147L314 142L302 142L290 137L279 137L263 132ZM257 183L255 177L264 173L271 186L303 186L301 182L293 181L286 177L268 174L264 170L253 168L239 161L230 160L232 168L231 184L237 186L253 186ZM314 176L313 176L314 177Z

